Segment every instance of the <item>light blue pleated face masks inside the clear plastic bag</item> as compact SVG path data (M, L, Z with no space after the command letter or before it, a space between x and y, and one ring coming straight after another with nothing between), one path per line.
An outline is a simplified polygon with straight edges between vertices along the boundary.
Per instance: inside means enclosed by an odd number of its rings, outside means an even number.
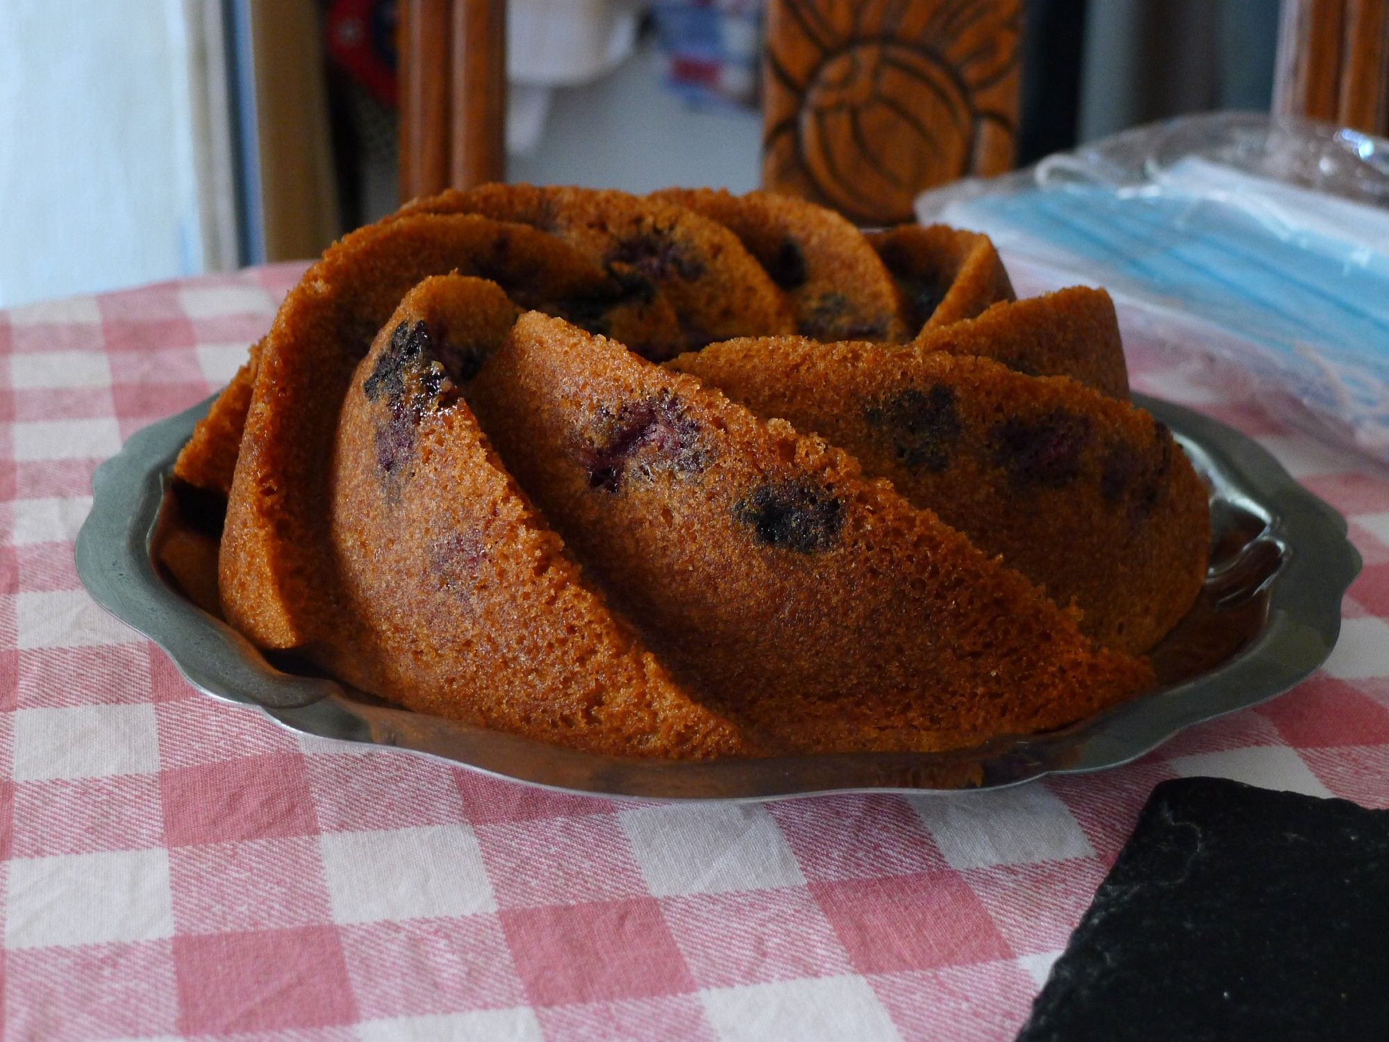
M1208 353L1389 460L1389 210L1200 157L1136 176L1106 160L1101 144L946 189L932 220L1214 326L1228 336Z

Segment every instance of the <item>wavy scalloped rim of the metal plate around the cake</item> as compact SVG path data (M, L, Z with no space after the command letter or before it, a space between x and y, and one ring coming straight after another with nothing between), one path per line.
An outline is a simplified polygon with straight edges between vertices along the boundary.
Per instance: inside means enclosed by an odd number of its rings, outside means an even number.
M733 802L840 793L950 795L1120 767L1179 731L1267 702L1306 679L1335 647L1340 600L1361 564L1347 539L1345 518L1299 485L1257 442L1185 407L1133 395L1135 404L1167 422L1188 452L1203 454L1207 468L1214 465L1215 472L1233 478L1228 482L1231 488L1271 518L1267 531L1288 552L1283 567L1271 579L1264 629L1233 659L1208 674L1149 692L1063 731L1004 736L972 750L715 761L603 756L385 704L371 706L347 696L335 681L281 672L240 634L169 588L150 557L154 522L172 460L214 397L138 431L93 475L93 506L75 547L78 575L93 599L150 639L189 684L217 700L258 707L301 735L401 749L554 792ZM1245 693L1236 690L1240 685ZM393 725L401 721L439 731L456 747L421 747L431 743L418 739L414 746L403 745L401 728ZM1063 761L1061 753L1074 759ZM511 760L503 766L499 757ZM517 770L515 760L529 767ZM961 761L1013 774L967 788L900 784L903 774L915 771L929 777L933 770ZM556 774L565 768L588 768L588 781L578 785L556 781ZM797 777L814 775L817 770L828 775L824 782ZM883 771L899 781L876 781L874 775Z

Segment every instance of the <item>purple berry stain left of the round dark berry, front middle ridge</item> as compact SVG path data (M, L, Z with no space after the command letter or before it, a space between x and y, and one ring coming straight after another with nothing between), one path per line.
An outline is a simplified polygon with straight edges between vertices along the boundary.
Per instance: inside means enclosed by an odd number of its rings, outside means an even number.
M578 453L590 488L619 492L633 477L693 475L708 463L699 424L669 392L625 403L601 427L601 435Z

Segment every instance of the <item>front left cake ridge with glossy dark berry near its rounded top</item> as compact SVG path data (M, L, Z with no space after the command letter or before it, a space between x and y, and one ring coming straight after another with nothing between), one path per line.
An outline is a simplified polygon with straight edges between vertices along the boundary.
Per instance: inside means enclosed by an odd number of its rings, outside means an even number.
M425 279L357 367L328 504L342 614L308 650L410 709L557 745L746 752L585 579L458 393L515 314L492 282Z

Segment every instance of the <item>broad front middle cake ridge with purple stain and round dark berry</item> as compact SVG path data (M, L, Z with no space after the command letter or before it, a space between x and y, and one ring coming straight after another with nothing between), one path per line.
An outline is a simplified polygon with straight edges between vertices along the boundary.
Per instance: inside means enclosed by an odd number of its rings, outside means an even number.
M568 322L522 315L464 393L653 650L772 747L971 746L1151 682L843 452Z

